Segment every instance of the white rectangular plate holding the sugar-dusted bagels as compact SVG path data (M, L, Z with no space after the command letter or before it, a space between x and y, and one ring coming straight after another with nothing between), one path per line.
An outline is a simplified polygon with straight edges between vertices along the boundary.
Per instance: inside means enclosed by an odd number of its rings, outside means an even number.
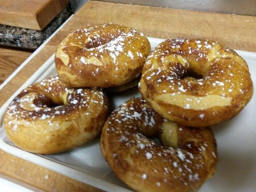
M151 49L163 39L148 38ZM256 84L256 53L239 51L249 65ZM6 137L2 119L6 108L22 89L46 77L55 75L54 55L35 72L16 93L0 108L0 148L14 156L24 158L37 165L52 169L63 175L88 183L105 191L130 191L111 171L101 155L99 137L89 144L57 155L42 156L17 148ZM140 96L137 89L115 94L110 98L114 107L118 107L132 96ZM256 96L242 112L224 123L213 126L217 144L219 162L213 178L200 189L201 192L253 192L256 191Z

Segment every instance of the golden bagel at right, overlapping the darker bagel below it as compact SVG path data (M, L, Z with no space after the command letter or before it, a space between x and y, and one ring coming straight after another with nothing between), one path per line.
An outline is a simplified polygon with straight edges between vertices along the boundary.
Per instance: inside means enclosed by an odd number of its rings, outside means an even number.
M231 119L253 95L244 59L207 39L171 38L160 43L146 60L139 87L162 117L193 127Z

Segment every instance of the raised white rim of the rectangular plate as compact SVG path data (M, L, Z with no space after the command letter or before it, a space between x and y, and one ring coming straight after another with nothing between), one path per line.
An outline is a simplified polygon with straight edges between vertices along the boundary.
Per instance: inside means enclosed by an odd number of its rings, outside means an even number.
M161 41L164 41L166 39L160 39L160 38L154 38L154 37L147 37L149 42L157 42L158 44ZM239 55L246 55L246 57L253 57L256 59L256 53L255 52L249 52L249 51L243 51L243 50L235 50ZM92 185L94 187L97 187L101 190L105 191L123 191L123 192L131 192L131 190L123 188L122 186L119 186L117 184L111 183L109 181L97 178L96 176L91 176L87 174L85 171L79 170L79 168L74 168L72 165L68 165L67 163L58 161L56 159L43 156L40 154L33 154L27 151L24 151L16 146L13 146L11 144L8 144L4 141L4 138L6 137L6 133L3 128L3 116L4 113L9 105L9 103L12 101L12 99L24 88L27 86L35 83L43 74L48 73L48 71L51 71L51 66L54 65L54 54L52 54L49 59L44 62L41 67L38 68L38 70L30 77L28 78L25 83L18 88L15 93L12 94L12 96L1 106L0 108L0 149L3 151L10 153L14 156L23 158L31 163L34 163L36 165L49 168L50 170L53 170L55 172L61 173L65 176L71 177L75 180L79 180L81 182L84 182L86 184ZM21 69L20 69L21 70ZM15 71L16 72L16 71ZM256 84L256 82L255 82Z

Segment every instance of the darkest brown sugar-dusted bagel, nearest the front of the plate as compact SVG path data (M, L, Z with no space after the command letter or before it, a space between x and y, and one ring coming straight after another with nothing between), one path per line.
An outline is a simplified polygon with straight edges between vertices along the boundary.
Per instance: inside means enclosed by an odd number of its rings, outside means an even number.
M164 146L148 137L159 136ZM215 172L217 148L210 128L179 126L142 98L114 110L100 139L110 168L137 192L190 192Z

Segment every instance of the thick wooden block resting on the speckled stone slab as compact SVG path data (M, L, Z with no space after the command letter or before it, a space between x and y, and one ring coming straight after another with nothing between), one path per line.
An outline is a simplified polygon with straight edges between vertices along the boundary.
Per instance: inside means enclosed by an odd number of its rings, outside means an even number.
M0 24L42 30L69 0L0 0Z

